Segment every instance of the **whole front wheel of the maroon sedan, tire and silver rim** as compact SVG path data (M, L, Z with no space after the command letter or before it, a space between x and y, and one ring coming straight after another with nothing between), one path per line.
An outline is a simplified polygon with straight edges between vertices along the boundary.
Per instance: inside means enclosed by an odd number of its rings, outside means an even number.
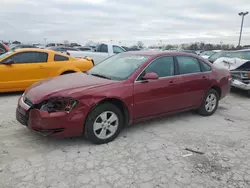
M110 117L113 117L111 121ZM120 134L123 126L124 118L120 109L106 102L90 112L85 123L84 133L92 143L105 144L113 141Z

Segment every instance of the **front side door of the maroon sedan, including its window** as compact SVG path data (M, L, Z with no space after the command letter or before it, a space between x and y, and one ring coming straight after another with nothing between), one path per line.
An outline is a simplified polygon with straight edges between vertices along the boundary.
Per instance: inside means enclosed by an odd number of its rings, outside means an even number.
M178 76L175 76L172 56L154 60L134 83L134 119L164 114L177 110ZM154 72L156 80L142 80L145 73Z

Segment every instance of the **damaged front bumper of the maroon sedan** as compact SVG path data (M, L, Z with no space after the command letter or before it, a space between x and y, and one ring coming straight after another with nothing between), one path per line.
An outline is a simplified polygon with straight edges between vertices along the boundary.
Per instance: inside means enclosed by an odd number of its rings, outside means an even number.
M86 114L81 110L70 113L48 113L35 108L25 108L23 101L19 99L16 109L16 119L43 136L65 138L81 136Z

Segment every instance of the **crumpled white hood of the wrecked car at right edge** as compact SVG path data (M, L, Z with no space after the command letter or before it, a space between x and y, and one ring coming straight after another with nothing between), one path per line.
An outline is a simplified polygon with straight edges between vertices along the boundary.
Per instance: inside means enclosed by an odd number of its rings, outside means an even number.
M227 58L227 57L221 57L218 58L213 64L216 66L224 67L228 70L235 70L245 64L246 62L249 62L249 60L246 59L240 59L240 58Z

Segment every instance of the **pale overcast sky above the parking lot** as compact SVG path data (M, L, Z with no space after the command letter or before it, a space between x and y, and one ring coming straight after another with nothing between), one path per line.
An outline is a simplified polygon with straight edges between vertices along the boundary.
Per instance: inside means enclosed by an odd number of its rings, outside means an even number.
M250 0L1 0L0 40L237 44ZM242 44L250 44L250 14Z

